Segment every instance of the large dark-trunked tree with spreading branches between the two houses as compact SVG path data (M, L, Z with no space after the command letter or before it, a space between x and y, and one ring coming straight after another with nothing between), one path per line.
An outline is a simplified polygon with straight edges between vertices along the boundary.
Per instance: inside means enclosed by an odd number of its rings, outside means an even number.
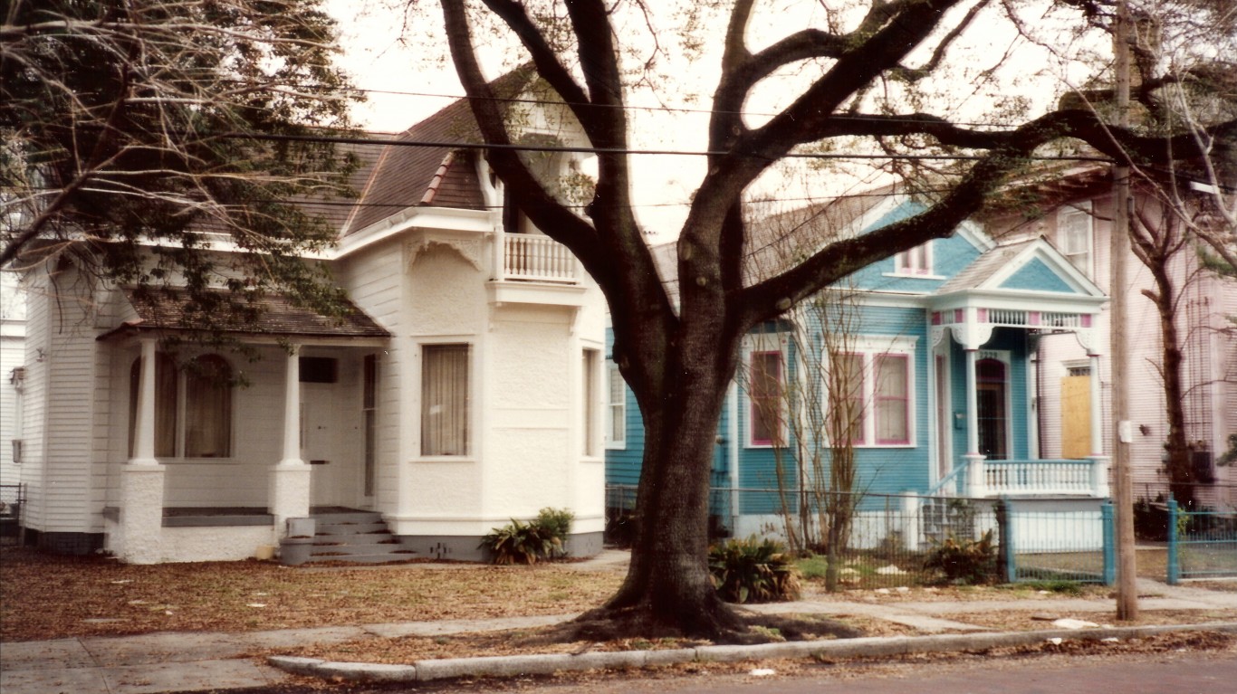
M750 27L768 17L751 0L730 4L716 33L690 25L688 38L720 46L720 77L710 103L708 167L677 241L675 303L637 224L627 153L630 84L622 42L635 31L628 27L653 21L652 5L442 4L456 72L492 146L490 165L529 219L570 247L601 286L610 303L615 360L646 426L631 567L618 593L580 619L580 632L746 637L740 616L713 589L706 549L714 438L748 329L878 259L948 236L983 205L1007 173L1063 137L1081 139L1108 156L1137 156L1148 165L1199 152L1194 137L1142 137L1106 126L1085 109L1048 110L1029 119L1025 108L1008 109L1024 120L997 127L955 121L949 99L918 98L927 96L930 79L940 77L934 73L950 66L959 37L980 28L976 17L987 5L985 0L823 2L821 22L792 27L797 15L782 12L777 24L787 33L760 46L750 43ZM635 16L623 15L627 10ZM714 10L710 5L688 14L704 21ZM1001 16L986 16L982 31ZM474 43L477 17L494 20L492 28L518 42L595 148L597 182L584 214L557 200L507 147L513 137ZM656 37L662 40L666 32ZM779 71L803 75L802 88L772 114L748 118L750 99ZM819 151L855 142L868 144L865 152L960 158L939 167L949 184L920 214L811 249L776 276L748 282L750 228L743 208L753 184L803 146Z

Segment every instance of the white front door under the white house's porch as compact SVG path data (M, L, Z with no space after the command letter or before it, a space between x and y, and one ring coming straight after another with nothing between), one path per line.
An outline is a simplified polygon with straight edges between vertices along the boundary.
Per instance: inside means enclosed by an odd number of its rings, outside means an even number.
M301 459L309 463L309 500L314 506L349 506L344 427L336 383L301 383Z

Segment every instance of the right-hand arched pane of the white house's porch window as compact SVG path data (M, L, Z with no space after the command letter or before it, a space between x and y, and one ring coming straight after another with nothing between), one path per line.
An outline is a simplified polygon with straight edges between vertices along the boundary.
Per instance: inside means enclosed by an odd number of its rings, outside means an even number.
M184 456L231 455L231 366L219 355L194 359L184 374Z

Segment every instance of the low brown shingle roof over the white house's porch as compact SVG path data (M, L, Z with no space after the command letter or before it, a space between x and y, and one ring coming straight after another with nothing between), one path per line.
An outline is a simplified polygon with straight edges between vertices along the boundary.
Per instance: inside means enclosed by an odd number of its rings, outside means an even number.
M322 336L322 338L390 338L385 328L346 299L343 315L324 315L310 308L293 304L280 294L255 299L252 304L244 299L230 299L229 292L210 292L219 299L219 307L212 311L213 329L229 334L273 335L273 336ZM119 328L100 335L108 338L118 333L143 330L192 330L193 314L200 308L190 306L190 298L183 289L125 289L125 297L137 313L136 320L127 320ZM254 320L251 309L257 309L260 318Z

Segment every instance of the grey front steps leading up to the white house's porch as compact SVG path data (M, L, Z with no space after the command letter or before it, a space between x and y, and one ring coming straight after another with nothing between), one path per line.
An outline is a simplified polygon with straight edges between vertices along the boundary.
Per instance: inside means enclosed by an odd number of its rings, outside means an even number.
M417 558L416 552L391 534L381 513L370 511L320 511L314 520L309 562L385 564Z

